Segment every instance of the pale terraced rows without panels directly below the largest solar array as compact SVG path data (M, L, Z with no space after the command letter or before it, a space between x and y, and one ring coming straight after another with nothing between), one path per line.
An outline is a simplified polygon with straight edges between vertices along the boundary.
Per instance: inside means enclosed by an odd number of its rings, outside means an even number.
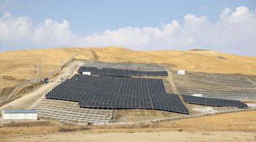
M109 123L113 110L79 108L78 102L43 99L35 108L39 117L63 121Z

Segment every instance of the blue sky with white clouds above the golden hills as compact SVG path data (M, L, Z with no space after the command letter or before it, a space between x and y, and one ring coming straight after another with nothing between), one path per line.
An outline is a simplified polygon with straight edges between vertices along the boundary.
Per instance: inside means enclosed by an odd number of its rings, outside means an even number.
M1 1L1 52L209 49L256 56L256 1Z

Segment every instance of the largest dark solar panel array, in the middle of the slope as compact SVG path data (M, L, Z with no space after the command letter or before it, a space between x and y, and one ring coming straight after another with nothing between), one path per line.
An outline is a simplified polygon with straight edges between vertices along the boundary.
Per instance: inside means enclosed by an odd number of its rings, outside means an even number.
M156 109L189 113L177 94L165 92L162 79L76 74L45 95L78 101L84 108Z

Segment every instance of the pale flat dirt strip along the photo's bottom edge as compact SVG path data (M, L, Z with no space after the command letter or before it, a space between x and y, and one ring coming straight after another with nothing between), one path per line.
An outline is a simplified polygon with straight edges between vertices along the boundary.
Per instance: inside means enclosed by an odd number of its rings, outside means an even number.
M242 131L110 132L101 134L65 132L46 135L3 136L0 141L256 141L255 136L255 132Z

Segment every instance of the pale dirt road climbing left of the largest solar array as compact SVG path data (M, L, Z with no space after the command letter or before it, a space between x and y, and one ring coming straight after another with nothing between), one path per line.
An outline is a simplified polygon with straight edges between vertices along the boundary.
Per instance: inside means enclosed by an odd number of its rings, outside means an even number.
M30 92L17 100L1 106L0 113L2 113L2 110L4 109L31 109L31 105L33 105L38 99L41 99L45 95L45 93L49 92L53 87L58 85L60 77L65 78L65 76L70 77L75 74L74 71L79 67L79 65L81 65L79 63L82 63L82 61L71 61L71 63L67 64L57 76L52 78L54 79L54 82L43 84L36 88L36 90L34 90L33 92Z

